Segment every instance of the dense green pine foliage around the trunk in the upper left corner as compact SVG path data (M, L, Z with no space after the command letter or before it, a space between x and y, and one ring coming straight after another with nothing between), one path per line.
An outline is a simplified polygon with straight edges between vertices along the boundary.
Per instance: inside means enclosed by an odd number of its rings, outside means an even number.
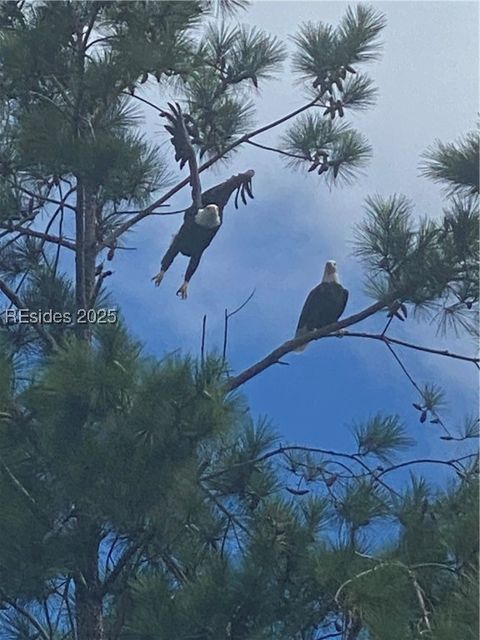
M138 115L122 92L144 73L176 73L161 55L185 58L185 34L200 13L195 2L35 5L28 27L8 31L0 46L4 97L15 105L17 168L83 179L104 201L144 202L165 184L165 166L132 131ZM92 21L103 44L89 44L85 59L78 33ZM46 33L52 25L55 38Z

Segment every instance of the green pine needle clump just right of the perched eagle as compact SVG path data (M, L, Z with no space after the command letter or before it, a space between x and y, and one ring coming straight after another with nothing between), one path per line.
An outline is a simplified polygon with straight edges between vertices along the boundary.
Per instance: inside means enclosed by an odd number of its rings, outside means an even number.
M470 332L478 304L478 198L454 199L439 223L415 224L403 196L366 201L356 254L368 267L368 291L411 302L448 327Z

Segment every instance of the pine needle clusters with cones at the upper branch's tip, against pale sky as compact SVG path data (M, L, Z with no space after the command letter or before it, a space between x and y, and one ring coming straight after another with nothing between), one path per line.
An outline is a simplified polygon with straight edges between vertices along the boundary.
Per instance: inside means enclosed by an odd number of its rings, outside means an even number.
M297 49L293 68L318 113L302 114L283 136L282 150L296 168L306 167L324 175L327 183L352 182L371 156L371 149L355 129L336 125L348 109L366 109L375 102L371 79L359 73L357 64L372 61L380 53L378 35L385 27L383 15L368 5L348 8L340 24L304 24L294 37ZM353 66L355 65L355 67Z

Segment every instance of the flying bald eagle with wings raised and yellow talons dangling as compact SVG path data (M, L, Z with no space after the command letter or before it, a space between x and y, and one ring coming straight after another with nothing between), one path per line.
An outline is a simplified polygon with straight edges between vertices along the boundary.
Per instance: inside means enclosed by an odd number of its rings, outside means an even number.
M159 286L165 272L179 253L188 256L190 261L185 273L182 286L177 296L183 300L188 295L190 279L198 268L203 252L212 242L223 222L223 209L236 191L235 208L238 209L238 196L247 204L245 194L253 198L252 178L254 171L249 170L232 176L225 182L202 193L195 151L190 140L192 123L190 117L182 113L180 105L169 104L170 112L162 112L168 120L165 129L172 135L175 147L175 160L180 162L180 169L188 163L190 170L190 184L192 187L192 204L185 211L183 224L173 237L172 243L162 258L160 271L153 276L155 286ZM188 123L188 124L186 124Z

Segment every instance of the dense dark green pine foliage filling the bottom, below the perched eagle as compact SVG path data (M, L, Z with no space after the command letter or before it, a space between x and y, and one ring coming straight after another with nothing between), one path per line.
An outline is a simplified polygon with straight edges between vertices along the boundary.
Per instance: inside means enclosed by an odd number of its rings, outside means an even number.
M145 359L121 324L99 328L93 347L71 338L27 385L15 382L8 351L0 373L8 601L29 600L32 613L35 601L54 606L48 585L82 566L89 522L105 624L126 613L125 639L294 640L334 623L373 637L391 625L388 637L413 639L425 624L417 583L429 624L448 628L458 598L472 619L457 585L468 587L476 566L475 470L444 492L418 480L392 492L366 475L409 444L398 418L358 425L347 467L285 456L268 424L225 394L221 360ZM353 475L339 477L348 467ZM292 497L294 484L306 495ZM376 523L393 523L395 535L365 556Z

